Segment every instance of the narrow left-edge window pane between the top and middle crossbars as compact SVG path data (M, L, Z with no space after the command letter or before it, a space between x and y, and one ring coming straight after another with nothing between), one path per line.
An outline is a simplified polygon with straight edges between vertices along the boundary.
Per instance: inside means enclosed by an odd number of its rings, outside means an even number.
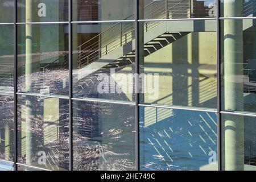
M0 90L13 91L13 25L1 25L0 32Z

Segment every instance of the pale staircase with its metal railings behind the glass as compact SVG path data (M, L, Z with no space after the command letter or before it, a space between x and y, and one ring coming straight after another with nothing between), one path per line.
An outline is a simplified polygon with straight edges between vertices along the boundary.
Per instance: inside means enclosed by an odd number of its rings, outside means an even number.
M184 13L184 9L186 9L187 14L189 14L190 6L187 2L189 1L177 1L175 4L173 2L168 3L168 14L175 13L178 15L180 12L181 15ZM166 12L166 4L164 1L154 1L150 3L144 7L144 12L146 18L148 19L165 19L168 16L166 13L164 13ZM126 19L130 19L133 16L134 14L130 15ZM151 55L151 53L168 46L172 42L175 42L177 39L180 39L184 35L188 34L188 32L170 32L167 30L155 32L154 29L156 28L164 28L163 23L144 23L144 36L149 34L154 35L151 37L151 39L144 39L144 56ZM96 71L98 74L109 68L118 69L133 64L135 61L134 31L135 27L133 23L119 22L101 32L101 34L98 34L94 38L81 44L77 48L77 68L80 68L80 72L82 72L82 76L80 76L78 80ZM121 53L121 55L118 55L118 53ZM98 62L102 64L97 65L97 67L93 67L93 64L96 65ZM105 64L103 62L105 62ZM79 73L79 75L81 74Z

